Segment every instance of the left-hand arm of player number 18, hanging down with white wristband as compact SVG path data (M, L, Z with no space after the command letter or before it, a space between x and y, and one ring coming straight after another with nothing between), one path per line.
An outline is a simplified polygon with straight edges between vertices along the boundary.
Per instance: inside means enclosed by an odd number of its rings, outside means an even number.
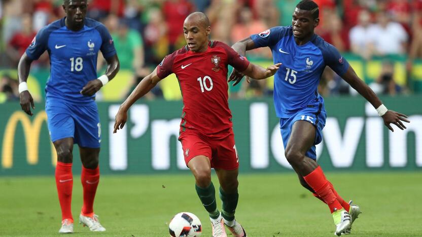
M22 57L19 60L18 64L18 78L19 78L19 101L20 107L25 113L32 116L32 109L35 108L33 104L33 99L31 94L28 91L28 86L26 85L26 80L29 75L29 69L31 67L32 59L30 59L26 52L23 53Z

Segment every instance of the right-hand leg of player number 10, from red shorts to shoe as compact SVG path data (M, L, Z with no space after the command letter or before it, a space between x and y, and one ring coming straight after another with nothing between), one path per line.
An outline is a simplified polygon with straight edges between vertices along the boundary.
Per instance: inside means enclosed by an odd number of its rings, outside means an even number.
M239 170L222 170L215 169L220 182L220 198L223 203L222 216L224 224L229 228L233 236L244 237L247 236L243 227L234 219L239 193L237 187L239 182L237 176Z

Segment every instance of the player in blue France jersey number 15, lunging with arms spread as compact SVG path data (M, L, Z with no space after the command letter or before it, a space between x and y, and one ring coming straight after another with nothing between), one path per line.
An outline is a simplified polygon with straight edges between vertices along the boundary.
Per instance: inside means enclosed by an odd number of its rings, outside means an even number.
M316 198L325 202L333 215L335 234L350 233L351 224L361 213L360 208L345 202L326 179L316 163L315 145L322 141L326 111L324 99L317 88L326 66L365 97L390 124L405 129L406 115L388 110L375 93L356 75L338 50L314 34L319 9L313 1L299 2L291 26L277 26L242 39L232 46L240 55L247 50L269 47L274 63L282 63L274 75L274 107L280 118L285 155L299 176L300 183ZM242 74L236 70L229 77L234 84Z

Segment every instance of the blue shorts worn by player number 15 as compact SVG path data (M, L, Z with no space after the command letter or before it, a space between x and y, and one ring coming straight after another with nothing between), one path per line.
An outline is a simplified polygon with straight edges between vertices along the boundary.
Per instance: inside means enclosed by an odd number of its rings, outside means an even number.
M312 108L303 108L287 119L280 118L280 131L282 133L284 148L286 149L287 143L289 142L293 124L299 120L307 121L315 127L316 134L313 146L306 151L305 155L310 159L316 160L315 145L319 144L323 140L323 128L325 126L326 119L327 113L325 112L324 104L322 103L320 103L319 106Z

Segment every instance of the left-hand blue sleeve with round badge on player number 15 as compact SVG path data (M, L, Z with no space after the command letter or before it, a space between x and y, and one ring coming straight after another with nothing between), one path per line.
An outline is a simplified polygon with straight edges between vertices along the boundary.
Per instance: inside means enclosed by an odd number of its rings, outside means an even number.
M252 41L254 41L255 47L272 47L277 42L289 33L289 27L276 26L270 29L264 30L259 34L251 35Z

